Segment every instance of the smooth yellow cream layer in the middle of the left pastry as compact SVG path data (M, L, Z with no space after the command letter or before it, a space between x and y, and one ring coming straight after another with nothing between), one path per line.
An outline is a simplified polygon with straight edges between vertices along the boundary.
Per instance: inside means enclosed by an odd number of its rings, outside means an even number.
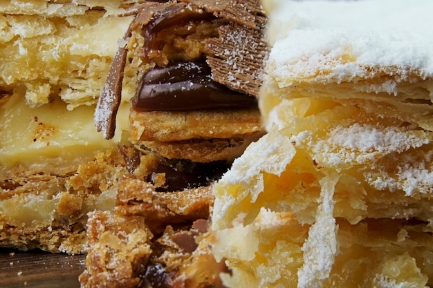
M93 124L94 106L80 106L72 111L59 99L30 108L24 97L15 93L0 106L0 167L62 173L85 160L95 151L116 148L122 131L127 130L128 105L118 117L118 135L104 140ZM0 169L1 171L1 169Z

